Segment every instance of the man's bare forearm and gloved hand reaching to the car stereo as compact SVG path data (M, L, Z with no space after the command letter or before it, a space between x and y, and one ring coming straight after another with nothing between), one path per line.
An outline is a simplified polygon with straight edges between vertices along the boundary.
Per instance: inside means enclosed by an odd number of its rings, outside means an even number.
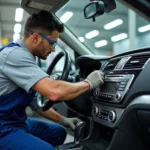
M85 81L69 83L60 80L52 80L45 77L38 81L32 88L44 97L52 100L70 100L87 91L103 84L103 73L94 71Z

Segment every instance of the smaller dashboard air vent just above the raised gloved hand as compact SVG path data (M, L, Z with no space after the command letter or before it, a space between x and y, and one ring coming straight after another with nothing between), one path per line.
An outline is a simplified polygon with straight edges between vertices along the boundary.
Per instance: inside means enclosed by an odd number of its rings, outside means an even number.
M116 65L118 64L119 61L120 61L120 59L110 60L109 63L104 68L104 71L112 71L112 70L114 70L114 68L116 67Z

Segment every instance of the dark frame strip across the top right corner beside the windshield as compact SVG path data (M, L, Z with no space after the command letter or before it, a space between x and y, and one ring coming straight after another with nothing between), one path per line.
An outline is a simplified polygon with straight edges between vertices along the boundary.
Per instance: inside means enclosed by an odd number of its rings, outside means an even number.
M150 21L150 0L118 0Z

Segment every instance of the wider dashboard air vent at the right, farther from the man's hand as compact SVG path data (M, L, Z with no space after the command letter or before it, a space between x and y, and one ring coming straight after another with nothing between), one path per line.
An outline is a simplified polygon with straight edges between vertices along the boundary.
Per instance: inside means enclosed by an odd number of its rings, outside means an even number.
M150 53L132 56L123 69L141 69L150 58Z

